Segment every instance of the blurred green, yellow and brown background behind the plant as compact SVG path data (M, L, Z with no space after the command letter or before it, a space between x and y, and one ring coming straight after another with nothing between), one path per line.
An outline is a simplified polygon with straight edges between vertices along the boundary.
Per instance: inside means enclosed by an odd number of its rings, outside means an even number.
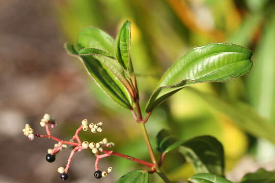
M180 139L208 134L223 143L232 181L259 167L275 169L273 0L12 0L0 1L0 12L0 135L7 145L0 152L7 157L0 165L0 182L41 177L41 182L60 181L56 169L65 165L69 152L48 165L44 156L54 142L29 143L20 134L24 123L44 133L39 120L45 112L57 118L58 127L52 132L56 136L69 139L82 118L102 121L103 133L81 133L81 138L106 137L115 142L116 151L149 160L130 111L105 96L80 62L63 49L64 42L76 40L81 28L96 26L115 37L125 20L132 23L131 56L142 108L163 72L190 48L227 42L254 52L253 69L244 77L185 88L159 106L147 123L153 146L162 128L171 129ZM76 155L72 164L69 181L94 181L91 154ZM114 182L130 170L143 168L116 157L100 164L102 169L108 166L114 173L102 182ZM14 168L19 171L16 177ZM176 151L167 156L163 170L175 182L184 182L194 173ZM152 176L152 182L161 181Z

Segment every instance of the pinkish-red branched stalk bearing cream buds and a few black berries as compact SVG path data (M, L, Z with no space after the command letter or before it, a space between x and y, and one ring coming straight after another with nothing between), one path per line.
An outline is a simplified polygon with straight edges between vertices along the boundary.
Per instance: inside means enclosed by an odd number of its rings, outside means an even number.
M111 148L115 144L113 142L108 142L108 140L106 138L102 139L100 142L97 142L97 143L95 143L95 142L89 143L88 141L81 142L80 138L78 137L78 134L81 130L87 131L89 128L91 129L92 133L102 132L102 125L103 125L103 123L100 122L97 124L91 123L88 126L88 120L83 119L81 121L80 127L75 131L75 135L73 136L73 138L70 141L64 141L64 140L60 140L57 137L54 137L51 135L51 133L49 131L49 126L51 128L54 128L56 126L56 123L54 121L54 118L51 118L51 116L46 113L40 121L40 126L45 127L47 135L35 134L33 129L28 124L25 125L25 128L22 130L22 132L25 136L28 137L29 140L33 140L34 137L37 136L37 137L47 137L47 138L56 140L58 142L58 143L54 144L53 149L49 148L47 150L46 161L49 163L54 162L56 160L56 155L64 148L67 148L68 145L70 145L73 148L71 151L70 157L68 159L68 163L67 163L66 167L58 168L58 172L61 174L60 178L62 180L67 180L69 177L67 173L68 173L69 166L70 166L73 155L77 151L81 151L83 149L90 149L92 151L92 153L96 156L96 163L95 163L96 171L94 173L94 176L96 178L101 178L101 177L107 176L107 174L112 171L112 167L109 167L107 169L107 171L101 172L100 170L98 170L99 160L102 158L111 156L113 154L113 151L105 150L104 148ZM102 153L102 154L99 155L100 153ZM115 156L118 156L118 155L115 155Z

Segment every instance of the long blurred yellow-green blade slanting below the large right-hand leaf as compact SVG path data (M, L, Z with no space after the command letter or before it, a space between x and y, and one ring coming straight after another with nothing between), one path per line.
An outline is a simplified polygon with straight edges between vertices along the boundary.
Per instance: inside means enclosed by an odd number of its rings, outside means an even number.
M214 95L202 93L197 89L188 88L200 96L215 110L232 118L234 123L242 130L269 140L275 144L275 126L261 117L251 106L241 101L228 101Z

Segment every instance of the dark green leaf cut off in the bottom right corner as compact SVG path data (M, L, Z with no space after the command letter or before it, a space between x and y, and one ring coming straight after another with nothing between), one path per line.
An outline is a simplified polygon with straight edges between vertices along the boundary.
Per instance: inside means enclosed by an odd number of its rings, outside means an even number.
M266 171L264 169L259 169L255 173L248 173L244 175L241 179L240 183L273 183L275 182L275 172L274 171Z

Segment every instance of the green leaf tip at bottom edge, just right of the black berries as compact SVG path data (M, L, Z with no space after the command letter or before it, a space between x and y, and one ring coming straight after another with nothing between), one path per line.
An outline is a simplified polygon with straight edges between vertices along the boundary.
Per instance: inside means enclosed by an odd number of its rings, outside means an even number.
M146 183L149 182L149 173L144 170L133 170L120 177L116 183Z

